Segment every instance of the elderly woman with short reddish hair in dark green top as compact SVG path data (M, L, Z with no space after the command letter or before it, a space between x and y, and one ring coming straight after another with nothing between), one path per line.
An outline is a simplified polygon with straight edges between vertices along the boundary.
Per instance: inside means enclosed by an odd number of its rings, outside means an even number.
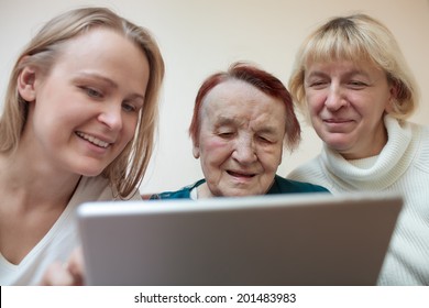
M255 66L235 63L204 81L189 134L205 178L153 199L327 191L276 175L284 146L298 145L300 127L284 85Z

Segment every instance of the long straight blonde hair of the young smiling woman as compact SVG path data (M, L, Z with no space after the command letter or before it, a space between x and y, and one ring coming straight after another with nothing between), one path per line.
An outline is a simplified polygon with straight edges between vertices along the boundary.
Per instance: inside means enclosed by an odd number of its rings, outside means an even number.
M18 147L26 123L28 102L18 92L18 77L28 65L48 74L64 42L92 28L107 28L135 43L147 57L150 78L145 101L140 113L134 139L103 170L112 189L121 198L135 193L147 168L158 117L158 95L164 78L164 61L148 30L138 26L106 8L81 8L67 11L47 22L19 56L13 67L0 119L0 151ZM143 81L143 80L142 80Z

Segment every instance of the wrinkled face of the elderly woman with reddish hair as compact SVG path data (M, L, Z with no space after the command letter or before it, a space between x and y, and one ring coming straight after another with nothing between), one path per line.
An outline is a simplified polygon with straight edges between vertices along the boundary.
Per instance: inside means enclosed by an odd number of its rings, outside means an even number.
M265 194L282 162L286 108L240 80L216 86L205 98L199 144L207 184L198 197Z

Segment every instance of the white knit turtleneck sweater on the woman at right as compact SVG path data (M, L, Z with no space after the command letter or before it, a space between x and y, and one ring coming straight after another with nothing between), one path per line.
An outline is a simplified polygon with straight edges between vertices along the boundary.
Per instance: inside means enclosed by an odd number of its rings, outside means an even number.
M346 161L323 146L288 178L322 185L332 194L395 191L405 204L380 285L429 285L429 128L384 119L388 141L380 155ZM364 228L364 226L362 227Z

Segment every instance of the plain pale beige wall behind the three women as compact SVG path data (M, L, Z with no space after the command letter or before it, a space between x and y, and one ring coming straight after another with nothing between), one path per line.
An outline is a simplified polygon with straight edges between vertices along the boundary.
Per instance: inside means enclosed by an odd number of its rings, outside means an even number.
M295 52L327 18L365 12L396 35L421 88L413 121L429 124L429 0L0 0L0 91L21 47L53 15L86 4L113 9L148 28L166 63L161 122L142 193L177 189L201 177L187 128L205 77L234 61L251 61L287 82ZM315 156L320 141L302 123L302 143L285 153L278 173Z

